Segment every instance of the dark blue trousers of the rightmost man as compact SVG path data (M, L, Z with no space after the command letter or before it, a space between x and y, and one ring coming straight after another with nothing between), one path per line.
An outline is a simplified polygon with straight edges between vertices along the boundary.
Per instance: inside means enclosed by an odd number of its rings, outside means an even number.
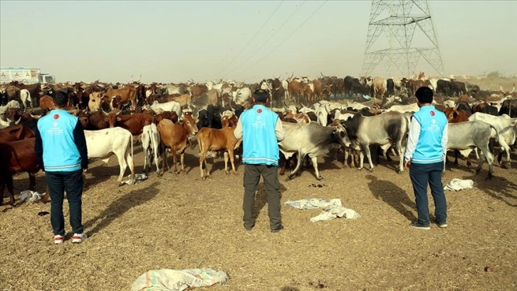
M417 164L411 163L409 177L413 184L415 202L417 203L418 222L429 225L429 201L427 199L427 184L431 188L434 200L434 217L437 223L447 222L447 201L442 185L442 170L444 163Z

